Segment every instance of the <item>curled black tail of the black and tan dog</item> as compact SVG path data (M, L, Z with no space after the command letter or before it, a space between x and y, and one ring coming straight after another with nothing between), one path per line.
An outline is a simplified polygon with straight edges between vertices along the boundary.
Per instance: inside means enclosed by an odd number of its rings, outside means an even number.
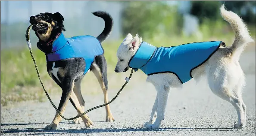
M105 21L104 30L100 33L99 36L97 36L97 39L100 42L103 42L110 35L112 31L113 19L107 12L97 11L97 12L93 12L93 14L97 17L103 18L103 20Z

